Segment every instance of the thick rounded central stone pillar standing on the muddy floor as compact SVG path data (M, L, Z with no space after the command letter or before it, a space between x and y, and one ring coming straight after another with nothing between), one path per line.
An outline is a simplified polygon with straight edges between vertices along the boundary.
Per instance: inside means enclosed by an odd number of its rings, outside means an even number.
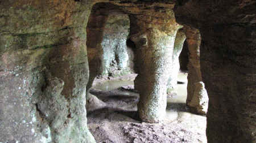
M139 74L134 83L135 89L139 90L140 118L145 122L158 123L166 115L166 85L171 72L172 51L179 25L175 23L172 30L162 31L160 27L163 25L157 27L142 20L156 20L148 17L134 16L130 19L131 40L135 42L139 57Z

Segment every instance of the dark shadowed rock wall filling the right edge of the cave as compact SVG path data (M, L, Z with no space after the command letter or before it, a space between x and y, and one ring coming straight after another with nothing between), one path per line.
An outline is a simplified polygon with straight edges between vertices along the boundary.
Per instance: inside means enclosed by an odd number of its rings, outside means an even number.
M256 141L255 1L179 1L179 24L200 30L208 142Z

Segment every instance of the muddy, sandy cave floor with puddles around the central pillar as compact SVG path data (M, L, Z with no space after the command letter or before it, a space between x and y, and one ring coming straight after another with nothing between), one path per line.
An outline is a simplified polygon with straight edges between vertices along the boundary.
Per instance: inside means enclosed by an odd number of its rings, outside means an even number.
M129 77L118 79L117 82L120 84L122 80L127 79ZM94 86L104 84L105 81L96 80ZM106 82L112 84L112 81ZM87 115L88 127L98 143L207 142L206 117L191 114L185 103L167 102L166 122L150 124L138 118L139 94L136 90L128 91L122 88L112 90L108 87L109 90L104 91L93 88L90 93L106 103L103 109L88 112ZM176 117L171 119L170 116Z

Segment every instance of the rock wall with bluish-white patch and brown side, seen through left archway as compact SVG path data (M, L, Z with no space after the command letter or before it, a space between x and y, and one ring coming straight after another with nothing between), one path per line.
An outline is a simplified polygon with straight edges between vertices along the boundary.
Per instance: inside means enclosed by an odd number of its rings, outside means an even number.
M86 95L89 96L89 89L97 75L117 77L129 73L131 68L128 66L133 63L128 60L133 59L133 52L126 46L129 17L119 6L96 3L92 7L86 32L90 71Z

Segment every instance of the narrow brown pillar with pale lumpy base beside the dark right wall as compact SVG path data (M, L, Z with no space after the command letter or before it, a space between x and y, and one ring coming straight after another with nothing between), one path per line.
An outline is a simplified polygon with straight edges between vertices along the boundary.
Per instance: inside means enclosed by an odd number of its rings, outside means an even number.
M204 83L200 71L200 44L201 37L196 28L184 26L185 35L189 50L188 62L188 85L187 85L187 104L195 107L195 111L206 114L208 108L208 95L204 89ZM200 85L200 87L198 87ZM193 100L192 100L193 99Z

